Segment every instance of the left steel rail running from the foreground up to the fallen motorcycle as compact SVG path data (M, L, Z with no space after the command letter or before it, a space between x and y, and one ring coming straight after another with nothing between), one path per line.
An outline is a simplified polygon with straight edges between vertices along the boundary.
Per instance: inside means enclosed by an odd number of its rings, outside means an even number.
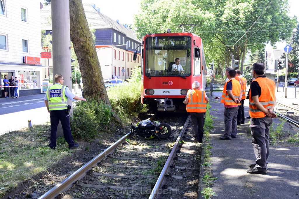
M107 155L114 152L115 148L123 143L123 141L126 140L129 136L131 136L132 132L127 133L122 138L120 138L118 141L116 141L114 144L109 146L107 149L105 149L103 152L101 152L99 155L94 157L91 161L86 163L84 166L82 166L80 169L72 173L70 176L65 178L63 181L58 183L56 186L54 186L52 189L50 189L48 192L46 192L44 195L39 197L39 199L52 199L58 196L60 193L68 190L71 186L73 186L73 183L83 178L86 173L99 161L101 161L103 158L105 158Z

